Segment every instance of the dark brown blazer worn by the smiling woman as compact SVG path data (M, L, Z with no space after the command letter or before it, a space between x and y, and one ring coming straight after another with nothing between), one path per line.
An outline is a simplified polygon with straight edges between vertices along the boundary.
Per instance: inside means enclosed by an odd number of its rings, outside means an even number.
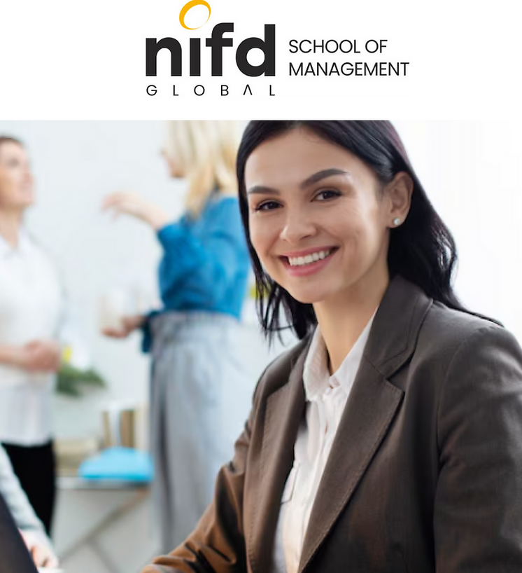
M260 378L196 530L142 573L269 573L310 337ZM197 479L197 476L194 476ZM521 573L522 351L391 282L313 504L299 573Z

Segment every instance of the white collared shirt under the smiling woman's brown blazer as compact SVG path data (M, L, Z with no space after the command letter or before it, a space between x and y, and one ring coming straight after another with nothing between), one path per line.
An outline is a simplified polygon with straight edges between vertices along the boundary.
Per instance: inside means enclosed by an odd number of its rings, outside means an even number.
M271 573L297 573L313 502L374 316L375 312L331 376L319 327L313 333L303 371L306 416L297 433L294 464L281 497Z

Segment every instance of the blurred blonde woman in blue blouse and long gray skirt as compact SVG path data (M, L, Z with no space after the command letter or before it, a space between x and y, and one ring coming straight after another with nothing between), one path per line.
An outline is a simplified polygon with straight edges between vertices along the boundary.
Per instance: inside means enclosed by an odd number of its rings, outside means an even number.
M170 551L195 527L213 495L219 467L248 416L235 343L249 272L241 226L232 119L169 119L164 157L171 177L188 180L185 214L169 216L134 193L103 204L147 223L163 249L158 271L162 310L126 317L107 336L143 330L152 357L153 497L162 549Z

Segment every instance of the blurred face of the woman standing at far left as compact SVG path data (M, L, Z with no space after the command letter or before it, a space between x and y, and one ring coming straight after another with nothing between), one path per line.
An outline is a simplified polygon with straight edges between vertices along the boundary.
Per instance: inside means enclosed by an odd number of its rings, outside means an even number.
M24 148L0 144L0 209L21 211L34 203L34 181Z

